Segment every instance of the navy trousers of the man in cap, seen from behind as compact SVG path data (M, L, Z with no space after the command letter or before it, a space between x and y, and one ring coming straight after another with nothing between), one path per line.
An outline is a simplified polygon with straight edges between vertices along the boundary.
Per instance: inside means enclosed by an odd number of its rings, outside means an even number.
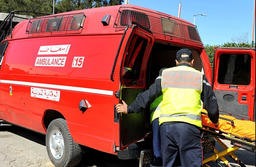
M180 158L182 167L202 167L203 147L200 130L178 122L160 126L163 167L174 167Z

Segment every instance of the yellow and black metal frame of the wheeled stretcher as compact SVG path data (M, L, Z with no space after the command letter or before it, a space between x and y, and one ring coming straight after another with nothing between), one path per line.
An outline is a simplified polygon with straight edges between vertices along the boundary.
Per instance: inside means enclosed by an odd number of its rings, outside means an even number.
M227 112L224 110L220 110L220 111L225 112L228 115L232 115L232 113L230 112ZM202 114L207 115L206 113L202 113ZM241 117L241 115L238 115L238 116ZM221 116L219 119L230 121L232 126L235 126L234 122L230 119L222 118ZM249 117L247 119L251 120ZM215 145L213 145L211 142L208 141L207 138L203 136L202 139L204 140L204 142L207 144L208 147L210 147L213 150L213 155L203 160L203 167L211 167L207 164L211 161L216 162L219 166L222 166L222 167L226 167L226 166L233 167L233 165L224 157L225 155L228 155L229 157L231 157L231 159L234 160L234 163L237 163L241 167L246 167L233 152L238 150L239 148L242 148L244 150L255 153L255 139L233 135L231 133L231 130L230 130L230 133L227 133L227 132L223 133L219 129L214 129L212 127L205 126L205 125L203 125L203 128L201 130L203 131L203 133L213 136L213 138L224 148L223 151L219 152L216 149ZM230 140L231 142L230 144L233 146L229 148L227 145L225 145L222 142L221 139ZM220 161L223 161L224 164L220 163Z

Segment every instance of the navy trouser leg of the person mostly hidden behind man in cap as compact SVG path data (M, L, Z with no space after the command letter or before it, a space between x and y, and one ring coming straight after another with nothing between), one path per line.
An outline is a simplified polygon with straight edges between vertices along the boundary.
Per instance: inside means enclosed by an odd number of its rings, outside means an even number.
M158 119L152 121L153 131L153 155L151 159L151 166L162 166L162 154L161 154L161 136L160 126Z

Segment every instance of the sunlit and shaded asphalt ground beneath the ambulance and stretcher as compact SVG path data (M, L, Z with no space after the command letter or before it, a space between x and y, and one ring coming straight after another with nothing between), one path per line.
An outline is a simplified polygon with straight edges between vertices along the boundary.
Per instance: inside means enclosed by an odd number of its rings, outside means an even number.
M224 143L230 146L230 141L225 140ZM216 148L223 151L218 144ZM239 149L234 154L246 167L255 167L255 153ZM225 158L233 162L229 157ZM219 167L214 162L208 165ZM232 166L239 167L235 163ZM0 167L54 167L46 152L45 136L0 121ZM78 167L139 167L139 160L120 160L115 155L88 148Z

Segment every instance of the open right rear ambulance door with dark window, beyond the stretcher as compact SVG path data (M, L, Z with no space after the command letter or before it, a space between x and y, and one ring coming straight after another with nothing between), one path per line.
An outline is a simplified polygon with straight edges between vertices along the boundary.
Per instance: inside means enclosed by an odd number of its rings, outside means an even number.
M255 48L217 48L212 83L220 110L255 122Z

